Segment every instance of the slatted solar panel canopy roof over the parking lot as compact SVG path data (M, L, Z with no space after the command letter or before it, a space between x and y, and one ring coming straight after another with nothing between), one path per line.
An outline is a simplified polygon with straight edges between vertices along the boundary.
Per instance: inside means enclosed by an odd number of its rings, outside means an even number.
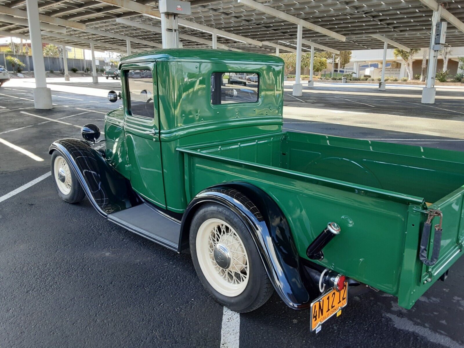
M310 40L340 51L382 48L383 42L372 37L373 34L384 35L410 48L428 47L433 13L430 4L437 4L435 0L266 0L258 2L341 34L346 38L345 41L303 27L303 40ZM6 15L11 15L11 11L6 11L6 8L26 10L24 0L0 0L0 3L3 6L0 8L0 13ZM134 10L135 3L137 8ZM238 41L237 38L231 39L226 37L226 33L219 32L217 40L218 45L223 45L222 48L227 46L232 49L270 54L275 53L275 45L280 45L281 49L288 47L290 51L295 49L297 28L295 23L258 11L237 0L193 0L190 3L192 14L182 16L182 20L243 38ZM445 9L462 21L464 19L462 6L464 6L464 0L449 1L445 4ZM141 8L143 10L140 10ZM83 47L89 47L91 40L95 42L96 50L123 52L125 43L122 43L122 39L134 38L134 41L131 39L133 52L153 49L153 46L161 45L161 21L155 18L156 16L142 13L146 9L156 13L157 1L39 0L39 13L85 25L85 30L67 26L65 34L43 32L42 39ZM155 31L151 28L148 30L132 26L127 22L118 22L117 19L129 19L132 22L153 26ZM462 27L460 29L462 30ZM16 34L18 37L21 35L26 37L29 29L26 25L6 22L0 18L0 31L2 36ZM212 39L211 32L198 31L185 25L180 25L179 31L183 35L180 38L183 47L207 47L206 41L211 42ZM103 35L101 35L102 32ZM7 35L8 33L11 35ZM195 39L202 42L199 43ZM448 24L446 44L463 46L464 33L456 26ZM308 48L309 45L303 43L303 47Z

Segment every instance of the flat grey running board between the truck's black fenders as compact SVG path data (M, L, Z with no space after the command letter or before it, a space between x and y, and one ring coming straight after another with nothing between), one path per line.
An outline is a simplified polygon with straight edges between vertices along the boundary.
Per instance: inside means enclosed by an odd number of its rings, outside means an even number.
M110 213L108 220L171 250L178 250L180 222L147 203Z

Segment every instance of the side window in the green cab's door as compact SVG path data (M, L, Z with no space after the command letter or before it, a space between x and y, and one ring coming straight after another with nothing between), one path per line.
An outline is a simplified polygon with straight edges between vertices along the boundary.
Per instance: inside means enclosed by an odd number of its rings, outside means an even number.
M127 103L134 116L155 117L153 74L150 70L128 70L126 74Z

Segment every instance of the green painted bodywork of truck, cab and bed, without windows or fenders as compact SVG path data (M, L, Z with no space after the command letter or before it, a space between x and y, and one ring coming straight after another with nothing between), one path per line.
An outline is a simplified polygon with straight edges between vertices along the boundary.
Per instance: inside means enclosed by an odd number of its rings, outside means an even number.
M147 52L122 60L122 86L128 68L153 72L156 115L130 115L123 88L123 108L105 117L106 158L154 204L182 213L206 187L249 182L282 209L301 258L335 221L342 233L316 262L397 296L405 308L462 254L463 153L283 132L284 66L277 57ZM258 102L212 105L217 71L258 73ZM444 213L432 267L418 257L426 202Z

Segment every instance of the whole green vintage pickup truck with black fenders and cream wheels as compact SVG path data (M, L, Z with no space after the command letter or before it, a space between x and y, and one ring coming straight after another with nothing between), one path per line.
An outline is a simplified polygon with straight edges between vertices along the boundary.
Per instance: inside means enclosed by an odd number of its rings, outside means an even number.
M190 248L224 306L251 311L275 290L318 329L370 288L410 309L462 255L463 153L283 131L270 55L165 49L119 69L105 149L92 124L50 147L58 194Z

